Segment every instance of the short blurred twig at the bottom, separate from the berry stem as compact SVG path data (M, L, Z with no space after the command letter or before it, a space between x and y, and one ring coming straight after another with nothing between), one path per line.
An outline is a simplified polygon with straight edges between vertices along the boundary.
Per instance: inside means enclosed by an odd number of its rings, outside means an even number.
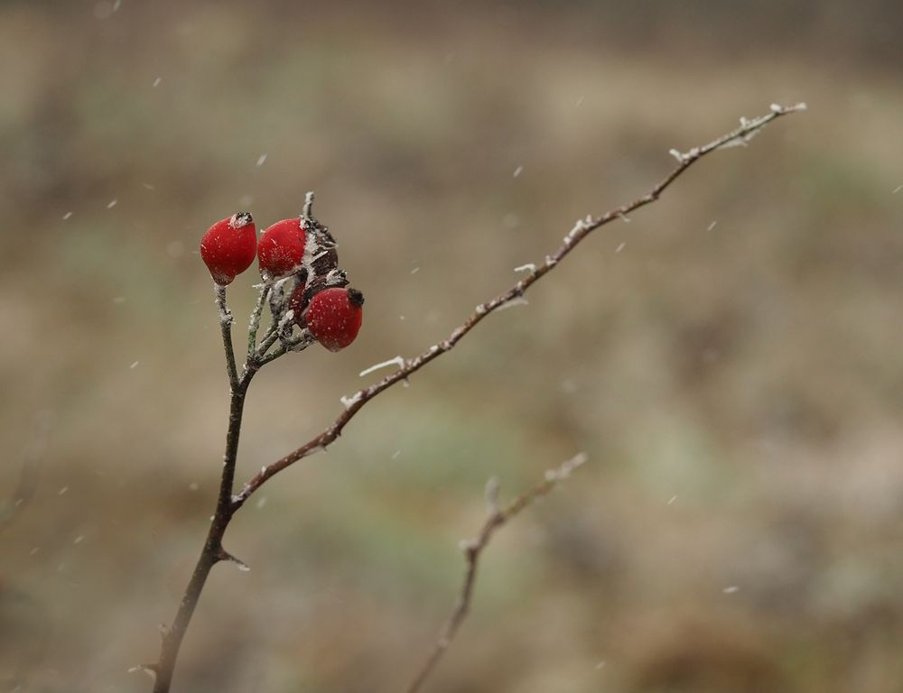
M489 479L489 484L486 487L489 517L486 518L486 522L483 523L483 527L475 539L461 542L461 550L464 551L464 559L467 565L464 570L464 580L461 584L458 601L454 606L452 615L442 628L442 633L433 646L433 651L426 658L414 680L407 687L407 693L416 693L423 687L424 681L442 659L442 655L445 654L445 651L452 644L455 633L458 633L458 629L461 627L464 619L467 618L467 614L470 611L470 602L473 598L473 587L477 581L479 557L489 545L492 535L502 525L515 517L517 513L532 505L537 498L548 494L559 482L571 476L574 469L580 467L586 462L586 459L586 454L580 453L576 457L569 459L561 467L550 469L545 473L545 479L543 479L542 483L535 485L526 494L518 496L501 509L498 508L498 482L494 478Z

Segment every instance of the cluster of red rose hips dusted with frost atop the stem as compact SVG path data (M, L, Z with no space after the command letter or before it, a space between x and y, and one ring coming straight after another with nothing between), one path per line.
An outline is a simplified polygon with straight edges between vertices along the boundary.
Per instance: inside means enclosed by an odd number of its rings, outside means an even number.
M222 219L201 239L200 256L219 286L231 283L257 257L274 319L310 330L330 351L348 347L358 336L364 295L349 288L335 239L312 217L309 205L301 217L267 228L259 241L249 213Z

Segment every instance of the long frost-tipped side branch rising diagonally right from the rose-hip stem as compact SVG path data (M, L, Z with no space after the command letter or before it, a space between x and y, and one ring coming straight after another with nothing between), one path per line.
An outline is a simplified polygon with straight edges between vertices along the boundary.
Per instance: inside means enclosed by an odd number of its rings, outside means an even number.
M568 232L567 236L564 236L563 244L558 250L556 250L554 254L546 255L544 263L532 268L529 266L518 268L520 270L530 269L530 271L526 273L523 279L515 283L507 291L498 294L494 299L488 300L485 303L480 303L470 317L464 320L459 327L454 328L452 333L442 340L442 342L434 344L419 356L405 359L403 366L394 373L386 375L386 377L378 383L359 390L358 393L355 393L350 397L343 398L343 402L346 402L345 411L343 411L339 417L326 428L326 430L323 430L320 434L304 443L300 448L293 450L293 452L290 452L282 459L276 460L274 463L264 467L255 476L249 479L241 492L234 497L234 509L237 510L245 504L251 494L254 494L255 491L260 488L261 485L264 485L270 477L275 476L285 467L290 467L299 459L309 457L315 452L327 448L335 441L335 439L339 438L342 430L348 425L349 421L354 418L355 414L357 414L365 404L376 397L377 394L384 392L396 383L406 381L412 374L424 367L424 365L430 363L433 359L442 356L442 354L451 351L452 348L461 341L461 338L468 334L471 329L475 328L482 319L489 315L489 313L499 310L503 306L507 306L512 301L521 300L527 289L533 286L535 282L542 279L545 274L551 272L554 267L561 262L567 254L570 254L577 245L580 245L583 239L586 238L586 236L589 236L592 231L595 231L600 226L609 224L611 221L627 217L630 212L655 202L666 188L677 180L684 171L690 168L690 166L702 159L703 156L716 149L748 143L755 134L771 121L777 120L777 118L783 115L789 115L802 110L805 110L805 104L796 104L796 106L778 106L777 104L772 104L771 110L767 115L761 115L752 120L743 118L740 120L740 127L732 130L730 133L721 135L721 137L712 140L712 142L708 144L701 147L694 147L688 152L677 152L676 150L672 150L672 154L677 159L677 165L664 179L649 189L645 195L632 202L628 202L628 204L610 209L600 217L592 217L589 215L578 220L571 231Z

